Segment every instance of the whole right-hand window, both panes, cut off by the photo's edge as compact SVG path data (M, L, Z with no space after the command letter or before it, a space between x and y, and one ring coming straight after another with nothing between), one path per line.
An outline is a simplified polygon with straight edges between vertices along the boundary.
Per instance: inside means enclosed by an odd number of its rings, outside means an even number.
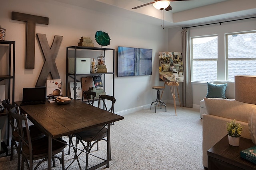
M256 32L226 34L227 80L256 75Z

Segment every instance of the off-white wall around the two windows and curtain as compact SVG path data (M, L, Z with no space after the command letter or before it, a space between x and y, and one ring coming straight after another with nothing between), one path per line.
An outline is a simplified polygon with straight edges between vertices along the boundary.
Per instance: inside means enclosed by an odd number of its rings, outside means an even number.
M250 16L243 18L249 18ZM236 20L240 18L232 18L230 20ZM220 21L216 21L220 22ZM214 23L214 22L212 22ZM202 23L205 24L205 23ZM201 24L198 24L201 25ZM232 21L214 25L207 25L201 27L189 28L190 37L202 36L202 35L218 35L218 80L225 80L225 33L235 33L241 31L256 30L256 18L240 21ZM181 44L180 32L181 27L170 28L168 30L168 49L173 50L177 48L177 44ZM207 94L207 83L192 82L192 94L193 94L193 107L199 108L200 101Z

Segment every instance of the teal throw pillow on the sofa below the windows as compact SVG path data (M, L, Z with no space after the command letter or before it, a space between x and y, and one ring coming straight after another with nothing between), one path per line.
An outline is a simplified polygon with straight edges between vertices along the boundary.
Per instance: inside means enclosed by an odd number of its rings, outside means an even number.
M226 93L226 87L227 84L213 84L213 83L208 83L208 91L206 98L226 98L225 93Z

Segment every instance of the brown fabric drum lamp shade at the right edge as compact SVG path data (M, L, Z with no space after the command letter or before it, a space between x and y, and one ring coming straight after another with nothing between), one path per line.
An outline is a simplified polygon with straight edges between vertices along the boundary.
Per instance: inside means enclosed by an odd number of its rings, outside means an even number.
M235 76L235 100L256 104L256 76Z

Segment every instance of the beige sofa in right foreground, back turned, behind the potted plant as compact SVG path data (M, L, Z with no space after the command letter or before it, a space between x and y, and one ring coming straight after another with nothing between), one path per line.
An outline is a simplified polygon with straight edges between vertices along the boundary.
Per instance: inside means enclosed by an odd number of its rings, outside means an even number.
M256 105L220 98L204 98L207 114L203 114L203 166L208 167L207 150L227 135L226 124L233 119L243 126L242 137L250 138L248 117Z

